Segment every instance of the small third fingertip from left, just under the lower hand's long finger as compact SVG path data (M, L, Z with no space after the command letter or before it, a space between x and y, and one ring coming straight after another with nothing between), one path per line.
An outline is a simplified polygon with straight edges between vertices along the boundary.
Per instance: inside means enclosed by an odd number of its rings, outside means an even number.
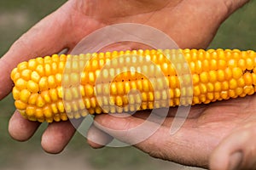
M104 133L99 128L92 125L87 133L87 142L92 148L102 148L109 144L113 140L113 137L108 133Z

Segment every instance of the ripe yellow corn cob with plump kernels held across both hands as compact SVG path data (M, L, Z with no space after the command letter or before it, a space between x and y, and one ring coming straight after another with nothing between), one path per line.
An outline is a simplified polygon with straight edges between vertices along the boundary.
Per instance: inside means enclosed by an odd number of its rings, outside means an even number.
M185 65L178 60L177 65L171 62L178 59L179 54L186 59L191 73L183 75L183 79L177 77L177 70L182 70ZM125 55L125 58L119 58L120 55ZM136 71L120 70L127 63L137 63L137 55L154 65L147 68L148 65L140 63ZM67 63L68 59L73 59L73 62ZM104 65L113 59L116 60L112 65L105 68ZM120 67L117 69L116 65ZM87 114L208 104L244 97L256 90L255 66L256 54L252 50L238 49L134 50L74 56L54 54L20 63L12 71L11 79L15 83L15 107L22 116L31 121L59 122ZM160 69L164 79L154 75L156 69ZM147 77L138 70L151 71L151 74ZM108 77L114 74L110 83ZM189 81L191 86L183 90L181 84L189 84ZM167 93L162 89L165 83ZM129 94L131 89L137 89L141 94Z

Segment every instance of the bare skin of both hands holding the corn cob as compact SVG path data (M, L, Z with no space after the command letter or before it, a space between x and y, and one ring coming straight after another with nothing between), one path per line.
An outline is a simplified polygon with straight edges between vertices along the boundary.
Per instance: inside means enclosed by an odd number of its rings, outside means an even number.
M3 82L0 85L0 99L11 91L9 73L18 63L55 54L63 48L72 50L83 37L103 26L123 22L141 23L166 32L180 48L207 48L221 23L244 3L247 1L70 0L27 31L1 58L0 73L4 74L0 77ZM143 47L121 42L105 50L136 48ZM172 109L156 133L134 146L150 156L184 165L211 169L232 169L237 166L238 169L256 168L253 159L256 147L252 140L256 134L255 102L255 95L252 95L193 106L189 119L171 136ZM116 133L116 130L128 131L137 127L147 115L145 111L128 117L96 116L96 123L88 133L88 143L94 148L103 145L93 141L108 144L113 138L132 143L137 138L134 133ZM151 125L156 123L152 122ZM29 122L15 111L9 121L9 133L14 139L25 141L32 137L39 126L40 123ZM49 153L60 153L73 133L75 128L70 122L50 123L42 136L42 147Z

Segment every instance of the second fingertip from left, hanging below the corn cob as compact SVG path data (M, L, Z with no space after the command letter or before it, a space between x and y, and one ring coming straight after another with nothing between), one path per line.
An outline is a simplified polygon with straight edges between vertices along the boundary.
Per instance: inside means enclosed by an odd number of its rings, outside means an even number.
M42 136L42 147L48 153L58 154L64 150L74 133L75 127L69 121L50 123Z

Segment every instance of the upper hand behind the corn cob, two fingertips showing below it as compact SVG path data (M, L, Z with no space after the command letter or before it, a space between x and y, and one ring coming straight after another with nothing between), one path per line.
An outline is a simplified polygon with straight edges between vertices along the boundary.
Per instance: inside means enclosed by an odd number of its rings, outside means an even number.
M0 86L0 99L9 94L12 87L9 73L20 61L55 54L63 48L69 48L71 51L90 32L115 23L134 22L154 26L172 37L180 48L206 48L221 22L246 1L224 2L232 1L208 0L207 3L191 3L170 0L159 3L154 0L70 0L27 31L0 60L0 68L3 71L1 81L4 82ZM162 20L163 16L166 16L166 20ZM136 44L132 43L119 45L137 48ZM24 120L16 111L9 122L9 133L14 139L26 140L38 126L38 122ZM70 122L49 124L42 138L44 150L50 153L60 152L74 132Z

